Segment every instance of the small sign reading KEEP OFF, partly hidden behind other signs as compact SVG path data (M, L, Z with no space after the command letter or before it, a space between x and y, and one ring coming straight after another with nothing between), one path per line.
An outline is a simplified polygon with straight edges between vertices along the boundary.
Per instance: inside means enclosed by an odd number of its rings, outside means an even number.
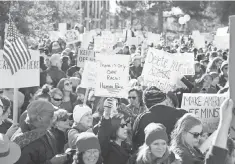
M78 49L77 66L84 67L85 61L95 61L95 52L92 50Z

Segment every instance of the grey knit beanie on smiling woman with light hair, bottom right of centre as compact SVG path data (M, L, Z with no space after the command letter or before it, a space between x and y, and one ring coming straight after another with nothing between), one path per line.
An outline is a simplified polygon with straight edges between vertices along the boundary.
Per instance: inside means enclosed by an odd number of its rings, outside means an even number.
M166 127L160 123L150 123L145 129L145 143L151 145L151 143L157 139L162 139L168 142L168 136L166 133Z

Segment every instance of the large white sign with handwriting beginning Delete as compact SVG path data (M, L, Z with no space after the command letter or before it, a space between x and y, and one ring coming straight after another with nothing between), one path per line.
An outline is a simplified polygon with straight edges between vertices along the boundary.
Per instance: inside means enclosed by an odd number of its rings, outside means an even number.
M193 75L193 54L170 54L165 51L149 48L142 72L145 86L156 86L162 91L174 90L177 87L175 75Z

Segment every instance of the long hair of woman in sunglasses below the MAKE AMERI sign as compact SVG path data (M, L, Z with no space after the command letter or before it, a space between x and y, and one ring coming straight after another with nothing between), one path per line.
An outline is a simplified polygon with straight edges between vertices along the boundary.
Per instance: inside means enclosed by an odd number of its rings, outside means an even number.
M181 117L175 124L175 128L171 133L170 151L176 153L181 151L179 149L180 147L187 147L188 145L183 139L183 134L189 132L194 126L201 124L201 121L191 113L187 113Z

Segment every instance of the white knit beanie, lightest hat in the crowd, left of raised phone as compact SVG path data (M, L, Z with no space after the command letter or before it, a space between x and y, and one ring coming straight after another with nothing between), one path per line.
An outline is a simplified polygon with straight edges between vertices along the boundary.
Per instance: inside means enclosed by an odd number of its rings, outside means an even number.
M86 105L76 105L73 109L73 120L76 123L81 121L81 118L88 112L92 113L91 108Z

